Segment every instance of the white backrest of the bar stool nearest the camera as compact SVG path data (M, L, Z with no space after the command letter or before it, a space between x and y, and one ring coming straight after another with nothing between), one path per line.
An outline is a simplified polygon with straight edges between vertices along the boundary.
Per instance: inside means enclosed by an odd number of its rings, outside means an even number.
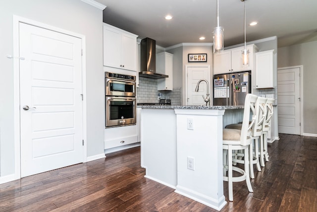
M255 124L255 115L252 115L252 121L250 122L250 111L254 110L256 101L258 99L257 95L248 93L244 101L244 111L243 111L243 122L240 134L240 144L250 145L252 141L252 128Z

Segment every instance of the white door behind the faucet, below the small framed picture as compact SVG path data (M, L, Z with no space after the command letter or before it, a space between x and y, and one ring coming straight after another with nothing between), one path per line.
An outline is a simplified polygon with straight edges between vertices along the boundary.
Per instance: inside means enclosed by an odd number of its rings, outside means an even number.
M185 66L186 74L186 99L187 105L206 105L202 95L207 96L207 83L202 81L199 84L199 91L195 92L196 85L200 79L206 79L209 82L209 91L211 91L210 66ZM212 95L210 94L210 98ZM210 100L212 102L212 99Z

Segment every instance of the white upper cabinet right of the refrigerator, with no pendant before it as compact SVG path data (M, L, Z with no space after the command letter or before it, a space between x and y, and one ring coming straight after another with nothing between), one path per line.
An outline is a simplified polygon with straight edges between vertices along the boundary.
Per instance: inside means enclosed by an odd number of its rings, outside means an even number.
M256 88L274 87L274 50L256 53Z

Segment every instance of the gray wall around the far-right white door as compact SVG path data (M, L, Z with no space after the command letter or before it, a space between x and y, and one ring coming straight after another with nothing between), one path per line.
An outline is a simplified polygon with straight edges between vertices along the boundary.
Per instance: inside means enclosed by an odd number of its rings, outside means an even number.
M278 48L277 67L303 65L303 133L317 134L317 41Z

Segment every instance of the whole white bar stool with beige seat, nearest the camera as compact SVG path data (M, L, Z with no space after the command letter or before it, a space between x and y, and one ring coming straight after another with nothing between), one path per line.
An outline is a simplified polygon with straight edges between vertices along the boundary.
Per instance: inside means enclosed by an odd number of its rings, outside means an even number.
M250 105L254 105L257 101L258 96L253 94L247 94L244 104L243 122L241 130L236 129L223 129L223 141L222 148L224 152L224 169L228 170L228 176L225 175L223 180L228 182L229 190L229 201L233 201L233 182L246 181L249 192L253 192L251 181L250 181L250 157L249 157L249 146L252 142L252 127L255 123L255 116L253 116L251 123L250 118ZM235 167L232 165L232 151L233 150L243 150L244 157L244 169ZM233 177L232 172L236 171L242 175L238 177Z

